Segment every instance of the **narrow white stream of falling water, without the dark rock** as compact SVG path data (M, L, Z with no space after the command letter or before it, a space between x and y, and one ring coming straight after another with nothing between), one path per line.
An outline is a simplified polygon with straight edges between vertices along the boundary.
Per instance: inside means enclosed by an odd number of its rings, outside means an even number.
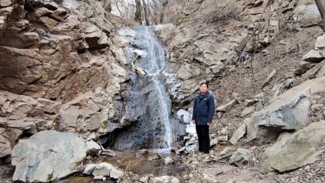
M173 120L171 119L171 100L166 91L162 72L166 66L166 56L164 47L156 38L153 28L148 26L139 26L136 30L135 43L138 42L141 50L145 53L142 54L138 62L135 63L137 67L145 69L148 73L148 77L154 83L154 90L156 90L156 100L159 104L158 107L158 119L164 126L164 148L171 148L173 146ZM143 44L141 43L143 42ZM159 77L160 76L160 77Z

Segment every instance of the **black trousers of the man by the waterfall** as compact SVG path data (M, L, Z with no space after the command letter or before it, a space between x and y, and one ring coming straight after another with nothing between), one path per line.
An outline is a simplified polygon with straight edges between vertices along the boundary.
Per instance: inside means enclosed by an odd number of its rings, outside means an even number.
M199 139L199 151L209 153L210 151L210 136L208 125L196 125L198 139Z

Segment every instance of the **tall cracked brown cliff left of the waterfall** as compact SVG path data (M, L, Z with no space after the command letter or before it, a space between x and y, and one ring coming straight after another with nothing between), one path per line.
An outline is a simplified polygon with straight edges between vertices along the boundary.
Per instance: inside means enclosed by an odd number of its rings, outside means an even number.
M127 40L106 3L50 1L24 10L24 1L1 1L0 157L22 134L53 129L91 140L123 126L114 119L115 94L127 79Z

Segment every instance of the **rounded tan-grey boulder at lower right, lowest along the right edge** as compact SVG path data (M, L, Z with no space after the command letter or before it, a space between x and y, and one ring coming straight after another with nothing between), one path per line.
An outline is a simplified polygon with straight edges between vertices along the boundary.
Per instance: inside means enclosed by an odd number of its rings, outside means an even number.
M313 163L325 150L325 121L315 122L267 148L260 171L287 172Z

